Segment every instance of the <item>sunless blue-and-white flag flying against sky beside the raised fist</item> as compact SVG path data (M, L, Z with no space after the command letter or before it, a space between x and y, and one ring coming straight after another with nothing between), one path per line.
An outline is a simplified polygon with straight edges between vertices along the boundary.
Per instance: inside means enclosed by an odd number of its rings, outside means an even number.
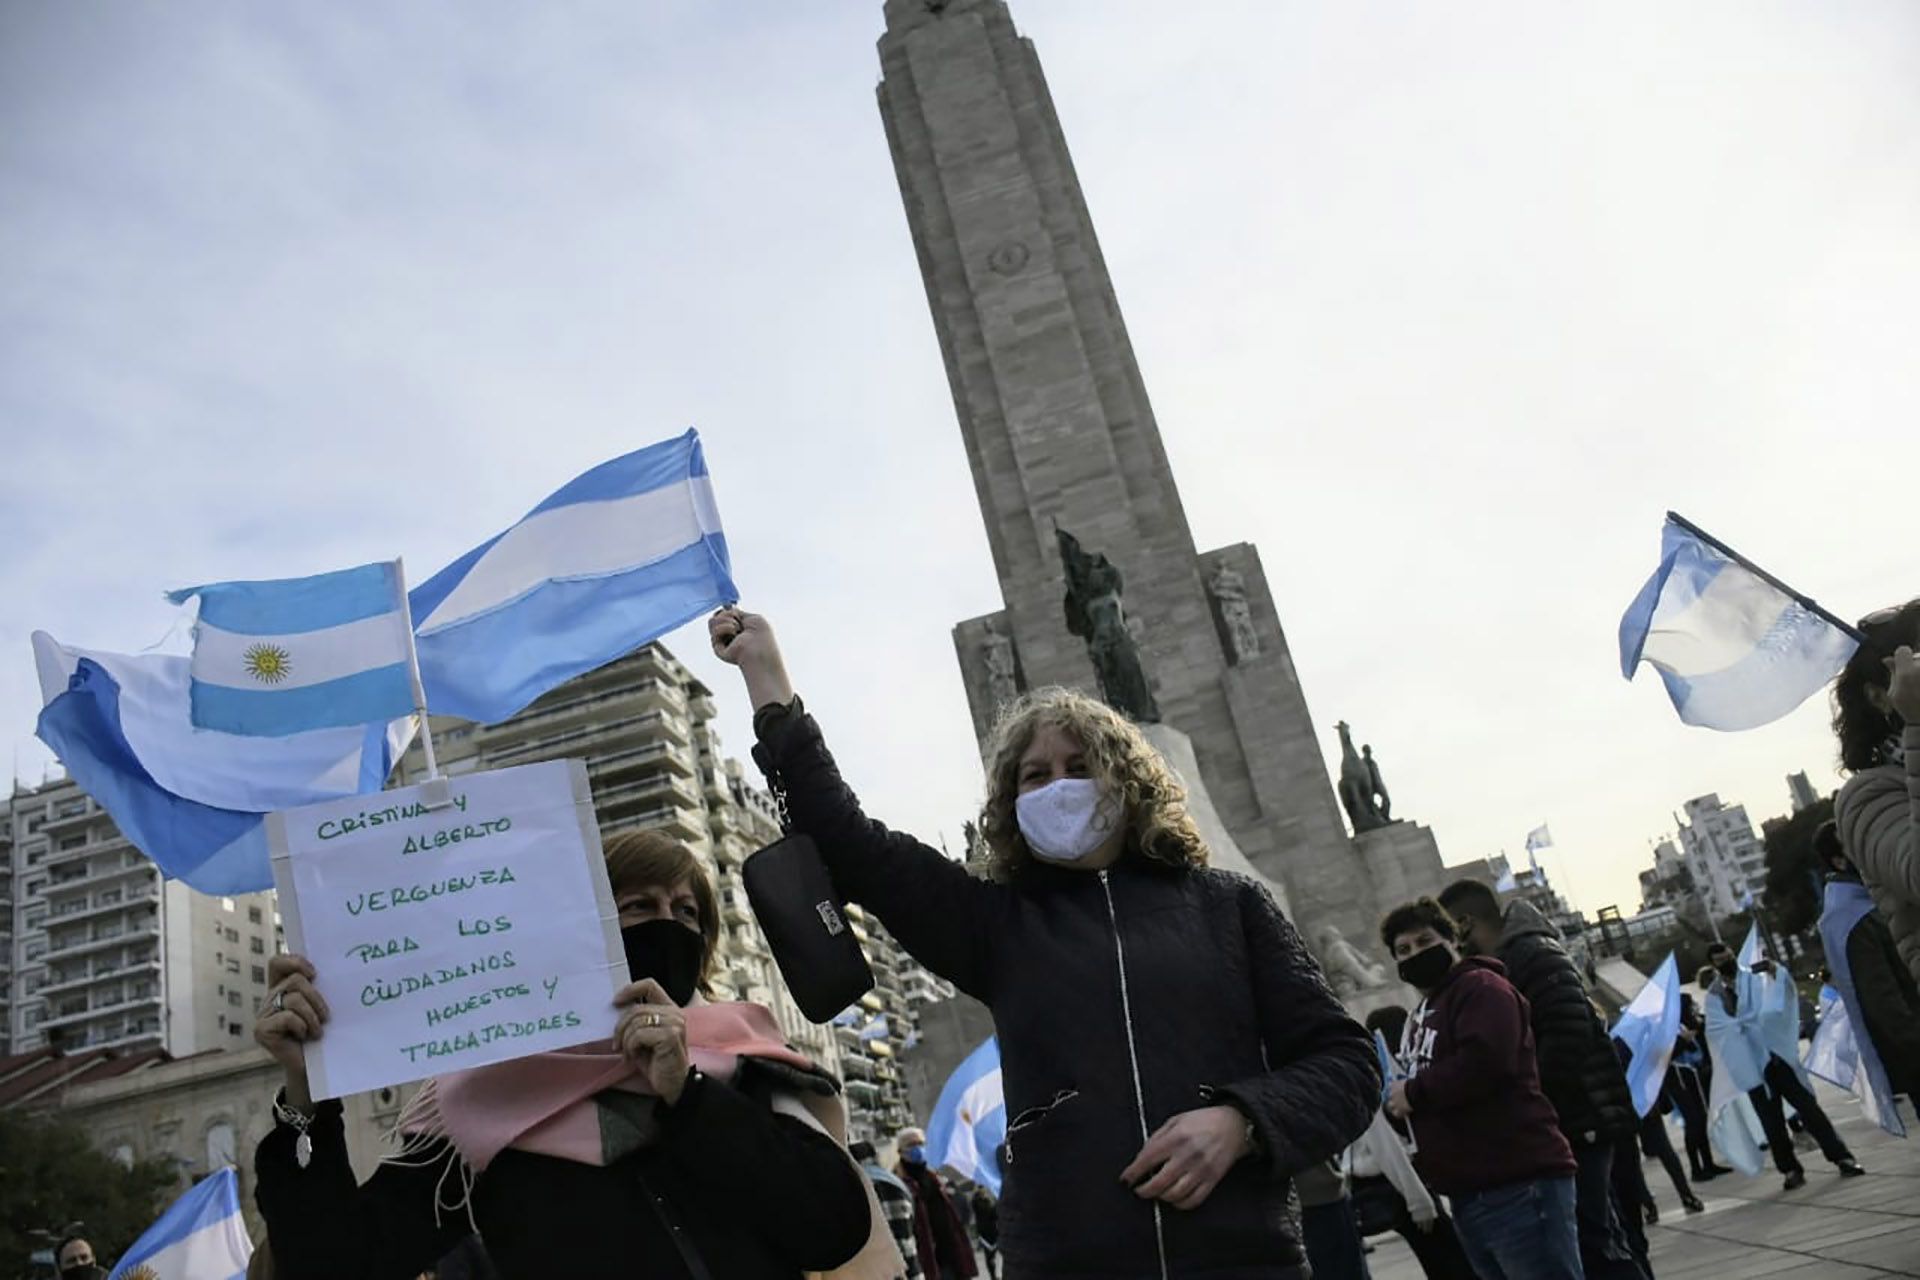
M497 723L735 599L689 430L578 476L411 593L426 704Z

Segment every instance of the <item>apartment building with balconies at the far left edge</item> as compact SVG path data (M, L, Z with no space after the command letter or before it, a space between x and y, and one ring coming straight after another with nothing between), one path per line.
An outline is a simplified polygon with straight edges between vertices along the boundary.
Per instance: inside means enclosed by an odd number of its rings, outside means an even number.
M71 779L15 791L0 827L6 1052L248 1044L278 940L273 894L161 879Z

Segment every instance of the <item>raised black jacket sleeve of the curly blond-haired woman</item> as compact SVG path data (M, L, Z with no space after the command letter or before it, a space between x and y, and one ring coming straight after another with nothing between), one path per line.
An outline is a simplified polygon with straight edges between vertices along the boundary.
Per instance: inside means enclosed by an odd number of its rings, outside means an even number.
M979 1000L993 1000L987 940L1000 892L910 835L860 812L820 725L803 708L755 716L753 758L787 798L795 831L820 846L833 887L872 910L914 960Z

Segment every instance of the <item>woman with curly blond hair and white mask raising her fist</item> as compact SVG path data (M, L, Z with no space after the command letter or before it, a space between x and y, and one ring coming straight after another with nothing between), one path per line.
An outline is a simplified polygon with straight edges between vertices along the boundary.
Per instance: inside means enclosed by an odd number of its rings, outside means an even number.
M1008 1280L1304 1276L1290 1178L1367 1128L1373 1042L1273 896L1206 865L1140 731L1069 689L1008 706L975 879L860 812L764 618L724 608L708 633L835 887L993 1009Z

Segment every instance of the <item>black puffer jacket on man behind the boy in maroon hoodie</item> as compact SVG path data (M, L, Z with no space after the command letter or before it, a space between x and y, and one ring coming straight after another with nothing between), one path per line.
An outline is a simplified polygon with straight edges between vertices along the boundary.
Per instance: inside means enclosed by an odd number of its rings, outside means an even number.
M1572 956L1548 917L1524 898L1507 904L1500 961L1532 1009L1540 1088L1574 1146L1613 1142L1640 1128L1626 1073L1607 1025L1586 996Z

